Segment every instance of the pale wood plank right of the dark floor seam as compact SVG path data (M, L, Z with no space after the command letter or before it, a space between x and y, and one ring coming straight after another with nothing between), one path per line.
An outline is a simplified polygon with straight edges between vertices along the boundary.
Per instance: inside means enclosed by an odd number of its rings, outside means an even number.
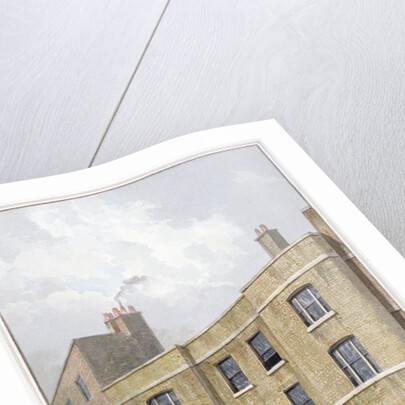
M400 0L176 0L97 156L276 118L405 254Z

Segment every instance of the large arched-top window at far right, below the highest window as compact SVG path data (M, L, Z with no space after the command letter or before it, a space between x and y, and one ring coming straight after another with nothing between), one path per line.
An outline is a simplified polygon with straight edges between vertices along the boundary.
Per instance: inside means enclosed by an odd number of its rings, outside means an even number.
M355 387L381 372L380 367L355 337L350 337L330 352Z

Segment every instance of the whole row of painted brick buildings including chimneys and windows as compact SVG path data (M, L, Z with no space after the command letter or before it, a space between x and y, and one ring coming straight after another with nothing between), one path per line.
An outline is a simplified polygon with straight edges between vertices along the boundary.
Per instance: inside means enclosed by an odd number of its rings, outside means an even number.
M311 208L292 244L260 225L272 260L198 336L163 351L133 307L75 339L54 405L404 404L404 313Z

